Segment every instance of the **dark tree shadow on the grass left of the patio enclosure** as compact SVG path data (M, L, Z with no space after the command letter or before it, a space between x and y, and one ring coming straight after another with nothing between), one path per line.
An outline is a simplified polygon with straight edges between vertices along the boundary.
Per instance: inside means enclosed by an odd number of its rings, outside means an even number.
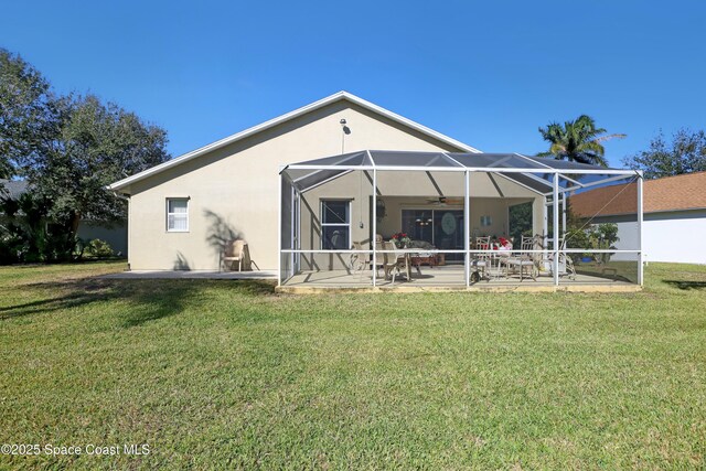
M237 280L214 283L210 280L115 280L85 278L25 285L20 289L32 291L38 300L0 308L0 320L77 309L96 304L96 309L109 310L109 303L126 303L116 317L124 328L139 327L147 322L199 309L199 299L206 299L210 287L232 290L234 296L261 297L274 293L274 285L260 280Z

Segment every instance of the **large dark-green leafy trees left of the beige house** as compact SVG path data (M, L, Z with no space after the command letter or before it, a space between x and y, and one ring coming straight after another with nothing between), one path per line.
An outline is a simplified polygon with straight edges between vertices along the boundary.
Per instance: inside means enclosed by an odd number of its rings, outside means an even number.
M0 49L0 261L69 260L83 221L115 224L126 203L105 186L167 161L167 131L92 94L60 95L20 55ZM0 191L2 191L0 189Z

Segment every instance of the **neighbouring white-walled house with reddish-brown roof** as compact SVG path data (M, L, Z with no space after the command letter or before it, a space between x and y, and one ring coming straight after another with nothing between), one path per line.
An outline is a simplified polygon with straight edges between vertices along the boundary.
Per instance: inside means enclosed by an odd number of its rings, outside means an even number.
M593 224L618 224L616 247L634 248L635 192L634 184L606 186L570 196L569 205ZM706 172L645 180L643 193L644 260L706 264Z

